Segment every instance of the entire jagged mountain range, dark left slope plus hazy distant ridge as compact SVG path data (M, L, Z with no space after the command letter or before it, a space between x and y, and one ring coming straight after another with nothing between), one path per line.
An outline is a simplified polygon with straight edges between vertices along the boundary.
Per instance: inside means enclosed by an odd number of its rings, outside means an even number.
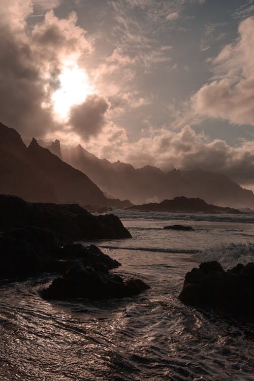
M26 147L16 130L0 123L0 193L30 202L114 207L184 196L219 206L254 208L251 190L219 173L135 169L100 159L81 145L61 150L58 140L44 144L46 148L40 144L33 138Z

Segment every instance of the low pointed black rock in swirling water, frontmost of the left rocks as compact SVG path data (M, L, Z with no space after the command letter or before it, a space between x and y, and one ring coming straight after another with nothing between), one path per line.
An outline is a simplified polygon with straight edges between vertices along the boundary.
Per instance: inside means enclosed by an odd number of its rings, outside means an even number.
M124 281L119 275L106 273L101 269L73 265L63 277L58 277L42 292L45 299L70 300L85 298L91 300L124 298L137 295L150 287L140 279Z

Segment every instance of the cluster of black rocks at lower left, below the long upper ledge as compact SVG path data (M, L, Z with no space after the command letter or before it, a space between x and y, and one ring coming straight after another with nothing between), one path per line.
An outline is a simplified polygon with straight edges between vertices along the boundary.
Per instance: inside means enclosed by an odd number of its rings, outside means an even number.
M47 229L24 227L0 233L1 281L24 279L43 272L65 274L42 292L46 299L123 298L149 288L140 279L123 280L109 272L118 266L119 262L95 245L59 246L55 234Z

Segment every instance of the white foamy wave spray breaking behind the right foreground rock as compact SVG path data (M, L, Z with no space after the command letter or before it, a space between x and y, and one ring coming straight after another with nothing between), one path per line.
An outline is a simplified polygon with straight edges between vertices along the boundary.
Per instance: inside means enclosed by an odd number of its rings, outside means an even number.
M200 251L195 257L200 262L218 261L225 270L238 263L254 262L254 243L220 243Z

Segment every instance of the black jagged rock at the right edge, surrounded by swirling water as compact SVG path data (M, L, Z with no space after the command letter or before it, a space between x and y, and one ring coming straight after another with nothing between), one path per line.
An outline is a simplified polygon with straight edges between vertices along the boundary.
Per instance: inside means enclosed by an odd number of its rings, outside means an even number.
M238 264L227 272L218 262L202 263L185 275L179 299L249 318L254 315L254 263Z

